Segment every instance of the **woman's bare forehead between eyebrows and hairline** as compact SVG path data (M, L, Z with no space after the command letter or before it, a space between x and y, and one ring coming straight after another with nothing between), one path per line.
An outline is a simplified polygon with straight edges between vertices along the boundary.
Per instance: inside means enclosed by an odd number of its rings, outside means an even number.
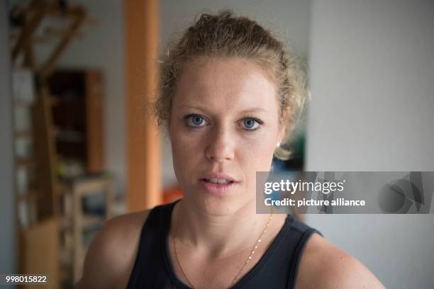
M265 69L241 58L203 57L182 68L174 106L276 109L276 88Z

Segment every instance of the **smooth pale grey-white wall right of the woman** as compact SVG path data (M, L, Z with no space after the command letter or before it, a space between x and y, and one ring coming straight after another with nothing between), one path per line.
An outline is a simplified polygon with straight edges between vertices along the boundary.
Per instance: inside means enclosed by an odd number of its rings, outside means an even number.
M434 171L434 2L311 5L308 171ZM309 215L387 288L433 288L434 215Z

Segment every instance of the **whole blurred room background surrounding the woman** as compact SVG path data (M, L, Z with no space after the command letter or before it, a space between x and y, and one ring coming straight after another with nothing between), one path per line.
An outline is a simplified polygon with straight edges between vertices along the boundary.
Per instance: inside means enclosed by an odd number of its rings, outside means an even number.
M311 104L276 170L434 171L430 0L1 0L0 274L72 288L105 220L182 198L150 117L158 60L196 16L276 33ZM386 288L434 288L433 215L306 215Z

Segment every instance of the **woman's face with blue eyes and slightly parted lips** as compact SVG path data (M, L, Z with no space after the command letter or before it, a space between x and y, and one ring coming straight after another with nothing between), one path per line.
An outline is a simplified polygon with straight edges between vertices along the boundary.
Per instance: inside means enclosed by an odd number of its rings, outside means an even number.
M228 215L255 204L256 171L269 171L283 133L276 87L257 64L198 58L183 67L169 135L175 174L199 210Z

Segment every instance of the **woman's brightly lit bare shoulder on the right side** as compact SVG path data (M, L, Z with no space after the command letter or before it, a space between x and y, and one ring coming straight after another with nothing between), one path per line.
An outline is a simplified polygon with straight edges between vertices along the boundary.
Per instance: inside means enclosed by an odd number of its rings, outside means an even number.
M296 288L384 288L360 261L313 234L301 256Z

